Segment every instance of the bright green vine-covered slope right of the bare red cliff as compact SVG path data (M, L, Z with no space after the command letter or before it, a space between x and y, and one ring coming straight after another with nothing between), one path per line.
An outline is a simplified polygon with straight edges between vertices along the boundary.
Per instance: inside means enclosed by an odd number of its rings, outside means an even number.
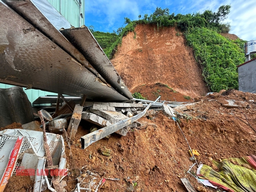
M187 43L202 65L204 80L213 92L238 89L237 67L244 62L242 40L228 40L207 28L194 28L185 33Z

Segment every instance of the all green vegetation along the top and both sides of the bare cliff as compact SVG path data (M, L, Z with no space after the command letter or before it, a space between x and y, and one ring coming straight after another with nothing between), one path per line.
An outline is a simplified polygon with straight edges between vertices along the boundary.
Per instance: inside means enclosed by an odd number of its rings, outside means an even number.
M154 26L155 32L159 32L159 29L164 27L175 27L177 29L176 36L182 34L178 32L179 28L183 32L188 46L194 50L195 59L202 67L203 77L210 91L218 92L228 88L238 89L236 66L244 62L245 41L229 40L219 34L220 32L227 33L230 30L230 24L223 23L230 12L230 8L230 5L223 5L218 8L217 12L205 10L202 13L175 15L174 13L170 14L168 8L157 7L154 13L150 15L145 14L144 17L139 15L138 20L131 21L127 17L124 18L125 27L120 27L117 32L107 35L98 32L96 39L100 45L102 44L101 46L105 48L105 54L111 59L117 47L122 45L122 38L128 32L134 32L137 24L150 24ZM136 32L134 32L134 38L136 38ZM142 50L138 51L142 52ZM254 57L252 56L252 58ZM172 88L170 89L174 92Z

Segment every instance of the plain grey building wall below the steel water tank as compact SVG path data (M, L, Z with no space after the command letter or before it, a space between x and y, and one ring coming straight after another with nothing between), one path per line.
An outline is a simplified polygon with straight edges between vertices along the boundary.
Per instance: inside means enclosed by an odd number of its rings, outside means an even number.
M256 60L238 66L238 86L240 91L256 93Z

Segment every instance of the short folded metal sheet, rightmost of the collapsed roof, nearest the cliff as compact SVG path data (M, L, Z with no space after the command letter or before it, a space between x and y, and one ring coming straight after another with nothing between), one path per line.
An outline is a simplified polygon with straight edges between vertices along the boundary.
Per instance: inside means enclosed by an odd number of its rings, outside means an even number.
M127 98L133 98L118 72L87 27L70 28L61 32L113 88Z

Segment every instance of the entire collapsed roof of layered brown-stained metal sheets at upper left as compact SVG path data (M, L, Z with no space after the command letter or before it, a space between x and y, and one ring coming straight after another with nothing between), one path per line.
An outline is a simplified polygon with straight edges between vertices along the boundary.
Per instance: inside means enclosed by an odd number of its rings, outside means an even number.
M46 17L47 9L38 9L44 6L36 0L0 1L0 82L92 100L131 99L88 28L64 30L63 35Z

